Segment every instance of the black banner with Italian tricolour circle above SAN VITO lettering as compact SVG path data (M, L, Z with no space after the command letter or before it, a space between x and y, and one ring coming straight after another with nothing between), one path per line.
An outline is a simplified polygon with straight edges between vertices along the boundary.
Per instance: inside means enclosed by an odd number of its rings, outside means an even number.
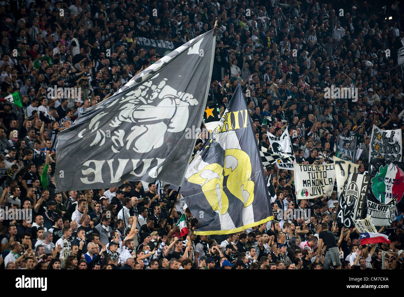
M404 211L404 163L377 158L370 162L369 173L368 214L376 226L390 226L398 211Z

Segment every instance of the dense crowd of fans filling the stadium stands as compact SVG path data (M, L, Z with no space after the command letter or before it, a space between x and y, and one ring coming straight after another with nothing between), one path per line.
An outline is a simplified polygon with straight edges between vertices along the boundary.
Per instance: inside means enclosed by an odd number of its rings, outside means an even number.
M260 146L270 147L268 131L280 136L288 126L297 162L322 164L333 162L338 135L356 135L363 173L372 127L404 130L404 23L398 1L385 5L0 1L0 97L18 92L23 105L3 99L0 110L0 268L381 269L385 253L385 269L402 269L402 214L396 228L380 230L391 244L362 246L356 229L335 223L337 192L296 200L293 171L275 166L265 170L275 221L212 236L194 234L189 209L169 213L177 193L160 181L59 193L53 179L58 133L160 59L138 37L187 42L216 19L208 104L226 107L240 78ZM331 85L357 88L358 101L326 99ZM50 96L54 86L70 89ZM18 212L24 219L12 217ZM183 213L185 236L176 227Z

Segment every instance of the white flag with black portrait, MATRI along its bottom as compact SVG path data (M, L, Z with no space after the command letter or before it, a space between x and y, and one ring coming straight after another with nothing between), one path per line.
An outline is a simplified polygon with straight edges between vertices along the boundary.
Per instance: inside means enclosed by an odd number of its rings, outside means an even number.
M271 133L267 133L269 138L269 143L271 143L271 149L274 153L280 154L290 160L279 160L276 162L276 166L280 169L293 170L293 163L295 162L295 154L293 152L292 143L290 142L290 137L288 134L288 127L286 126L285 131L283 131L280 137L276 137Z

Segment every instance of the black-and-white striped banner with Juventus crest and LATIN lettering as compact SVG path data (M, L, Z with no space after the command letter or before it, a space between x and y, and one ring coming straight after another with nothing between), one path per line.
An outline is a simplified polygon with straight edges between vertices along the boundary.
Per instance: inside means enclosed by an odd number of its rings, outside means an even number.
M337 222L345 227L354 227L354 221L366 216L366 193L370 176L350 173L338 202Z

